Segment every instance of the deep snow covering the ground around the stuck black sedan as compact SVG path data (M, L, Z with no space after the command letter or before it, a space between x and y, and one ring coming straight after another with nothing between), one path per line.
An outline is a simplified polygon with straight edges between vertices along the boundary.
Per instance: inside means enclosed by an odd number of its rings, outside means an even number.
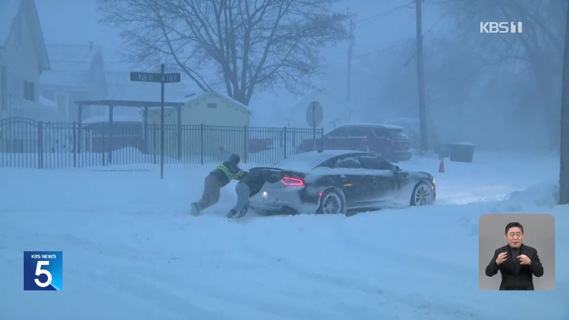
M435 175L434 206L244 223L221 218L234 183L187 215L213 165L167 165L164 180L150 165L0 168L0 319L489 319L511 305L567 319L558 163L477 152L438 174L437 159L414 158L398 165ZM148 171L92 171L109 169ZM477 225L492 212L555 216L555 291L478 290ZM22 252L42 250L63 251L61 292L23 291Z

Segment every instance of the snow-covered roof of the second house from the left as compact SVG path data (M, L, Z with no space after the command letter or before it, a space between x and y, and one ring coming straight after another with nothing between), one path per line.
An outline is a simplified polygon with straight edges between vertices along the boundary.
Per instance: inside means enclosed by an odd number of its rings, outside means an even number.
M77 44L48 44L51 71L40 76L42 85L63 87L86 87L89 81L89 69L101 54L100 46Z

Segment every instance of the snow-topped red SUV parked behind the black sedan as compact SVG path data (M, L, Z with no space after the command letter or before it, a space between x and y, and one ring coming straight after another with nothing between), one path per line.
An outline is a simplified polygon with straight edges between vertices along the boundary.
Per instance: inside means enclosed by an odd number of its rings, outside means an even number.
M304 142L303 145L310 149L311 141ZM323 146L324 150L368 151L389 162L411 159L409 137L403 133L403 128L395 125L343 125L324 135Z

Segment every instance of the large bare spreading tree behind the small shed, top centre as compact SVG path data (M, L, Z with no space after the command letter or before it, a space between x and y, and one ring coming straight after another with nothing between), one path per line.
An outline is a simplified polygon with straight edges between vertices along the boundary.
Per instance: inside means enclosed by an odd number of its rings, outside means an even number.
M97 1L131 58L164 61L203 91L221 84L245 105L257 89L314 88L320 49L347 36L349 18L329 9L339 0Z

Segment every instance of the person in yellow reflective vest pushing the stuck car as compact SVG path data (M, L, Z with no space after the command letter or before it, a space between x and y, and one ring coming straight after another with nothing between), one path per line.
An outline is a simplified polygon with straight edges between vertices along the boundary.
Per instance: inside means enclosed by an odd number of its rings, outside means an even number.
M241 179L245 171L237 166L239 161L239 155L232 154L227 161L218 165L205 177L204 194L198 202L192 203L192 215L197 216L205 208L216 204L219 201L221 188L228 185L231 180Z

